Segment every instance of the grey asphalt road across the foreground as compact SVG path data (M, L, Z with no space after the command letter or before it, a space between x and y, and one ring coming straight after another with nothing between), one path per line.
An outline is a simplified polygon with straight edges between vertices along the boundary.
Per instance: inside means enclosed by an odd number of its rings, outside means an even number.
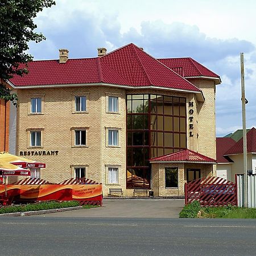
M256 255L256 220L1 217L1 255Z

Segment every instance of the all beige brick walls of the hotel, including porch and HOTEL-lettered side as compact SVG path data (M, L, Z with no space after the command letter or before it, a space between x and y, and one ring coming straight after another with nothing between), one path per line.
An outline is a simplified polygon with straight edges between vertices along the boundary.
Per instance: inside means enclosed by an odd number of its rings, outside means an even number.
M85 167L86 177L103 184L104 195L109 188L122 188L126 196L133 196L133 189L126 190L126 94L155 93L187 98L187 147L215 159L214 84L208 80L193 82L203 90L203 104L197 102L193 93L171 90L125 90L104 86L20 89L16 152L57 150L57 155L26 156L46 163L46 168L41 170L42 179L58 183L75 177L75 167ZM75 96L83 95L86 96L86 112L76 113ZM118 113L108 112L109 96L118 97ZM42 97L42 114L30 113L31 97ZM189 102L193 102L193 106L189 106ZM190 109L193 114L189 113ZM192 122L189 121L191 116ZM189 126L191 123L193 129ZM75 129L86 130L86 146L75 146ZM118 130L117 147L108 146L108 129ZM42 131L41 147L30 147L31 130ZM152 167L155 195L184 195L184 164L179 164L178 189L165 188L164 164L159 164L159 171L156 166ZM117 184L109 184L109 167L118 168Z

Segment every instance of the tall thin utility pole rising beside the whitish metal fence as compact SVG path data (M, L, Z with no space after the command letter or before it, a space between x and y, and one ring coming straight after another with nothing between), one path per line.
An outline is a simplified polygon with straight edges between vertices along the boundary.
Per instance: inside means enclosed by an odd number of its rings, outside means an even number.
M243 53L241 58L241 92L242 92L242 123L243 123L243 207L248 207L247 191L247 140L246 140L246 118L245 118L245 68L243 65Z

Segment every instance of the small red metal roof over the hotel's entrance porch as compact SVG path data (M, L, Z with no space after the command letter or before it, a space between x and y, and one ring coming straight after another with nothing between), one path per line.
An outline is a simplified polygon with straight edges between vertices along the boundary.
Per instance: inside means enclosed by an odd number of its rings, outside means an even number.
M199 154L193 150L182 150L168 155L158 156L157 158L151 158L150 162L207 162L216 163L216 160L209 158L208 156Z

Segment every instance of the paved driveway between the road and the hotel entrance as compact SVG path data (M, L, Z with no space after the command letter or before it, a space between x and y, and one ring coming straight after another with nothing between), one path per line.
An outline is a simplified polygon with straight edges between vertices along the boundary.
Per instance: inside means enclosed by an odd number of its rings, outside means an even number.
M178 218L183 199L105 199L103 206L68 212L49 213L54 217Z

